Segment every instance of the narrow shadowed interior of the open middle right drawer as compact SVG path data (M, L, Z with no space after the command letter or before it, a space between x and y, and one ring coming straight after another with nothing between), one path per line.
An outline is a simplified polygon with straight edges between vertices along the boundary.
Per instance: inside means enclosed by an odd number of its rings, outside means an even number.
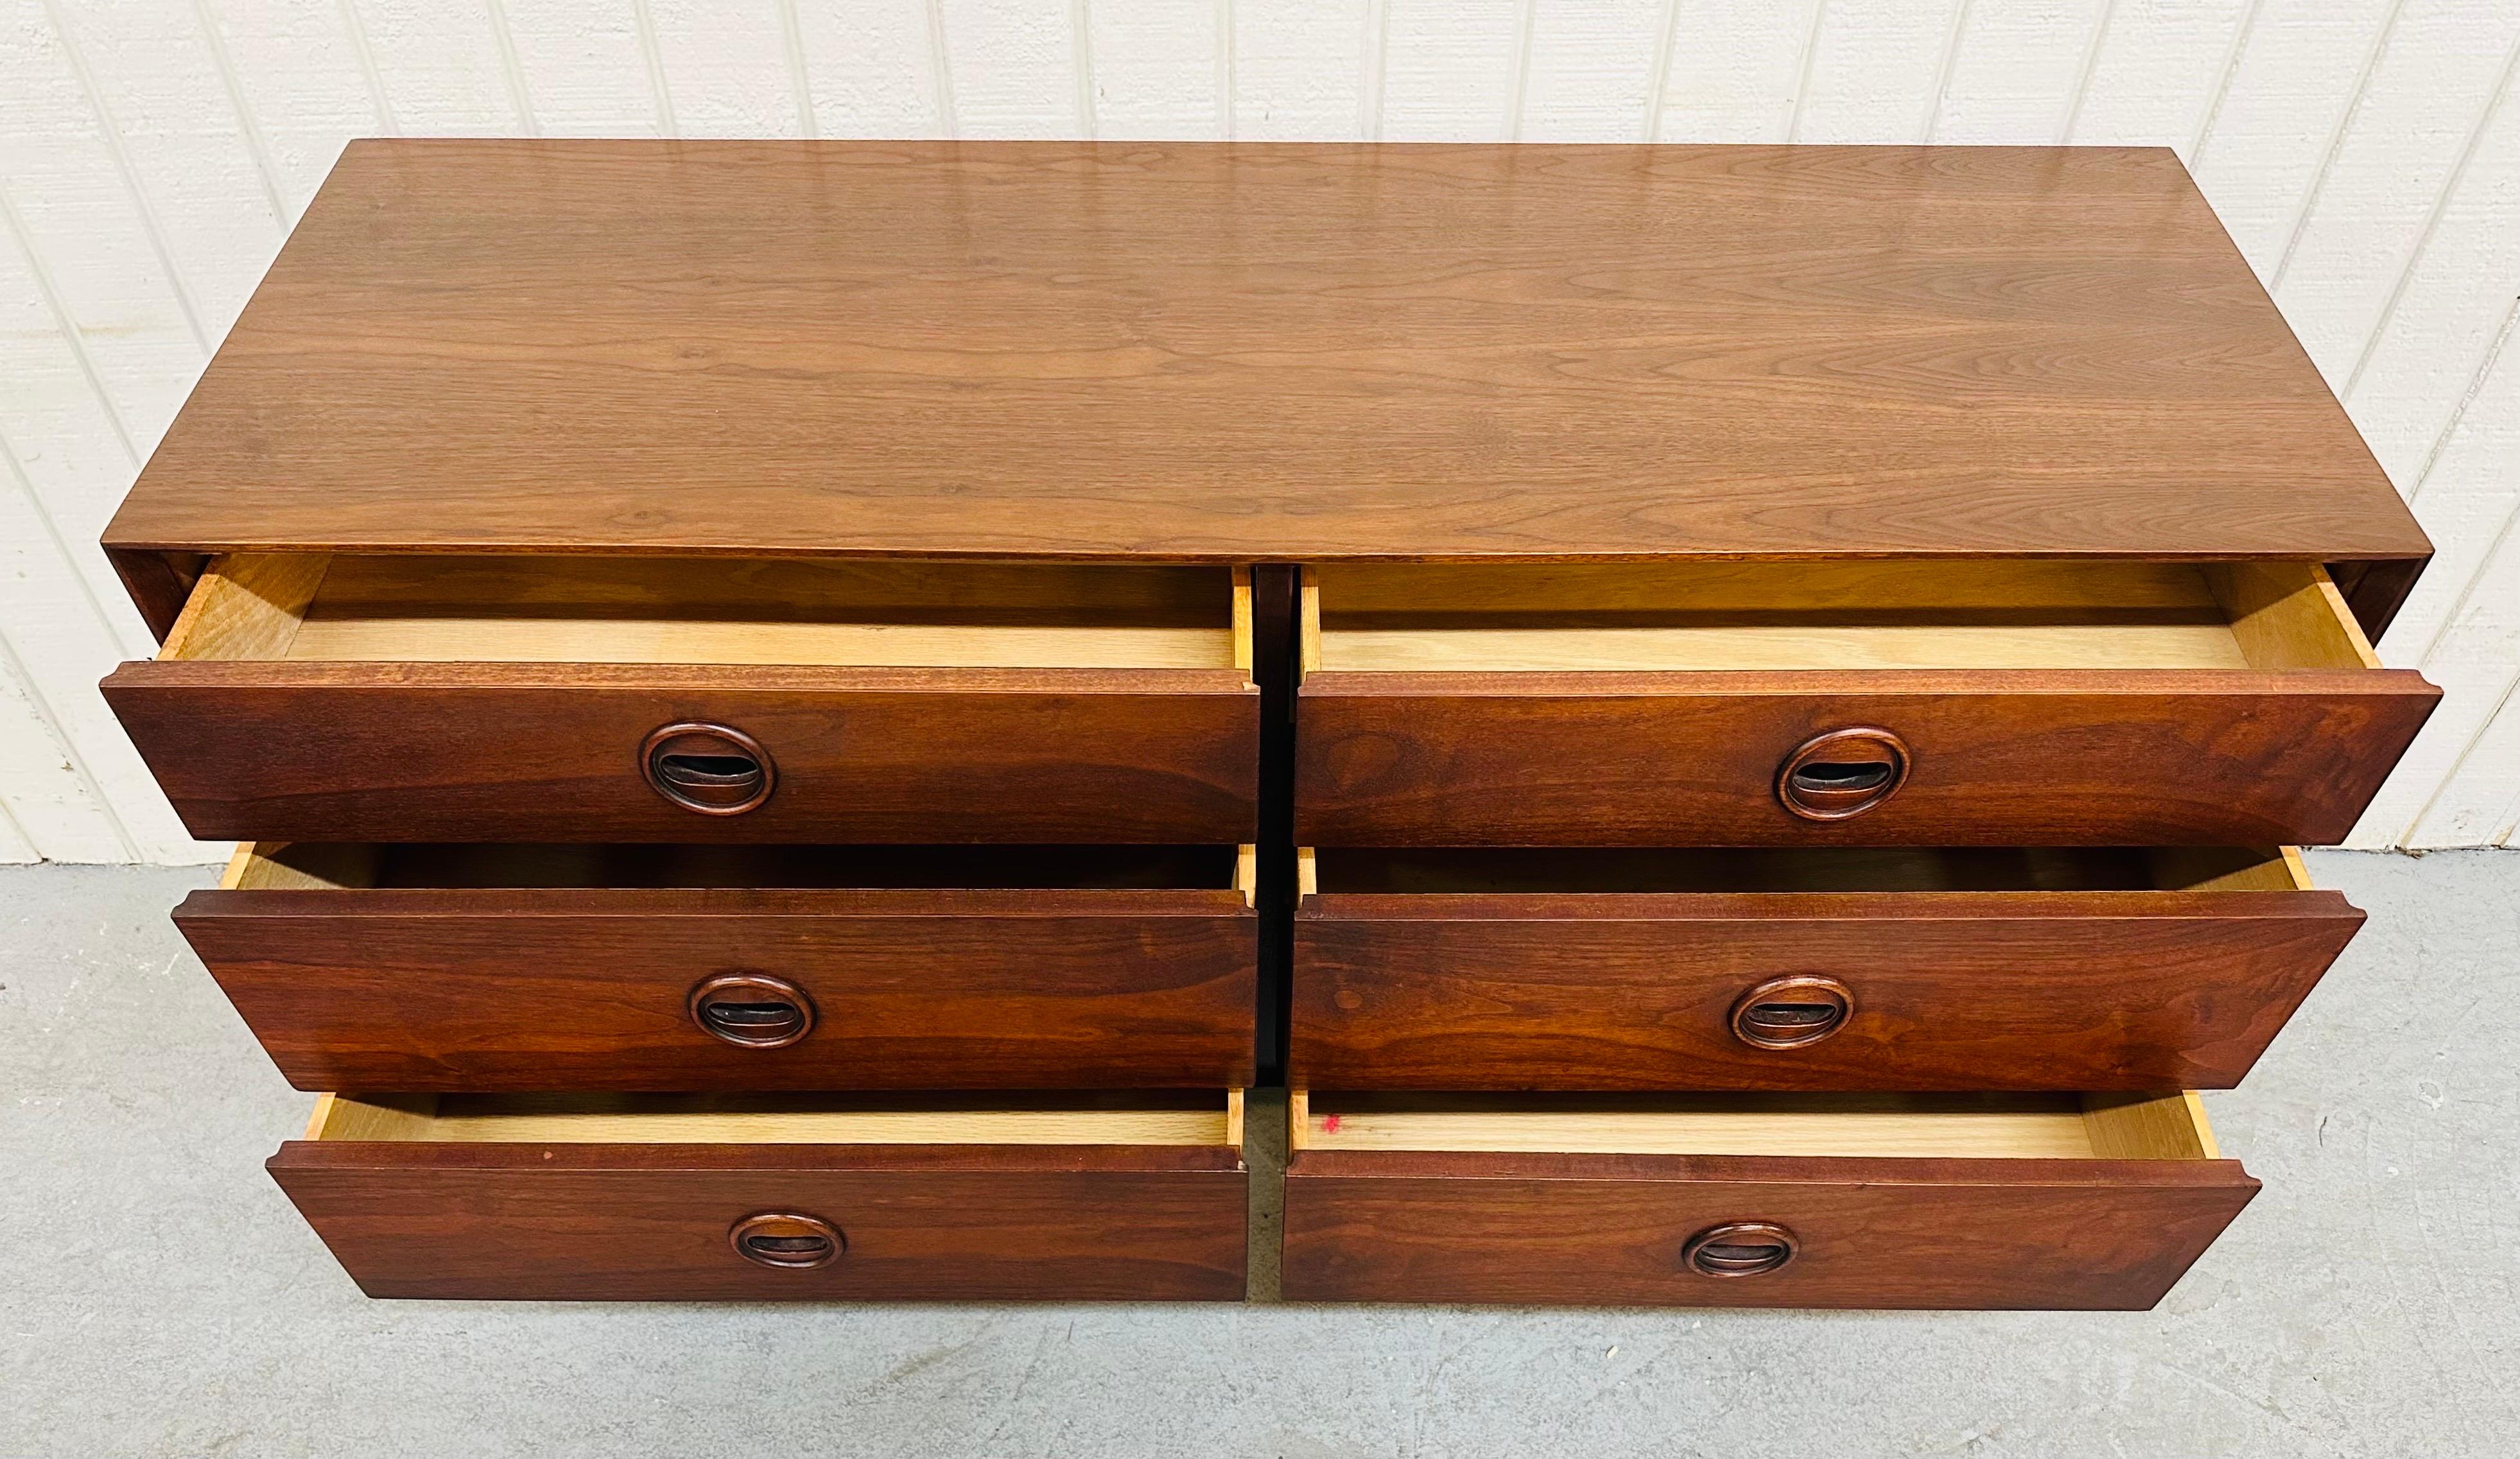
M1313 892L2308 892L2293 847L1300 849Z

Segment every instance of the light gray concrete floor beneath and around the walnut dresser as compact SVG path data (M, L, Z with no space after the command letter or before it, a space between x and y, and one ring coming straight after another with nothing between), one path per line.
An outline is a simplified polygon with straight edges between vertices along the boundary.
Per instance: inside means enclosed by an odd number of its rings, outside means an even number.
M209 874L0 872L0 1454L2507 1456L2520 852L2311 869L2371 925L2208 1096L2265 1192L2099 1315L370 1303Z

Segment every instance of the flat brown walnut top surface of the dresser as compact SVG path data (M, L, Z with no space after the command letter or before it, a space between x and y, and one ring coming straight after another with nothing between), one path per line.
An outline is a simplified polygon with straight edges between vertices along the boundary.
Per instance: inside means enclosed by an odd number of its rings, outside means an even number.
M2429 552L2162 149L995 141L358 141L106 544Z

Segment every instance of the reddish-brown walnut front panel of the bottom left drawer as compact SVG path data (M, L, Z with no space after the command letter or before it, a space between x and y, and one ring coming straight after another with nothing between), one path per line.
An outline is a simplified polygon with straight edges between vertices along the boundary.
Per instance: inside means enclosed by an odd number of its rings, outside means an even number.
M1230 1149L290 1141L270 1172L370 1298L1242 1298ZM769 1212L839 1252L738 1255Z

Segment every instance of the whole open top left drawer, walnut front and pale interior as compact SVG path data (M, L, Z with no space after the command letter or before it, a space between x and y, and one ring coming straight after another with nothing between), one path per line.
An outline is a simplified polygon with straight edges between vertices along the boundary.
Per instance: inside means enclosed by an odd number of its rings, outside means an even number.
M1255 834L1227 567L232 554L103 693L197 837Z

